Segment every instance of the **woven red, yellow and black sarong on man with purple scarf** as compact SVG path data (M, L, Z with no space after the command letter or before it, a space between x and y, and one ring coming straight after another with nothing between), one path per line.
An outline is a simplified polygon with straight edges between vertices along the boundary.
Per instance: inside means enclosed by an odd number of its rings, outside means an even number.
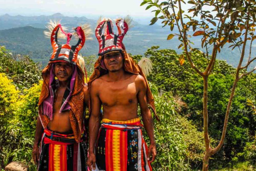
M87 160L86 137L76 143L74 134L44 129L40 145L38 171L85 171Z

